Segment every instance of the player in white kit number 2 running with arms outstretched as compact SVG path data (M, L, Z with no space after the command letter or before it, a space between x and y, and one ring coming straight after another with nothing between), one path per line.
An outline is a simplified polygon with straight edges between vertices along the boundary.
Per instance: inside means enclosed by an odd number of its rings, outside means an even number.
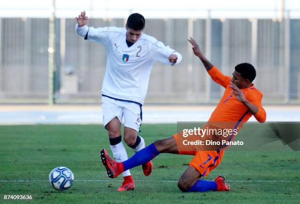
M145 147L138 136L142 124L142 105L147 94L150 72L155 61L174 65L181 55L169 46L143 33L145 19L131 14L125 28L88 27L85 11L75 18L76 32L85 40L100 42L106 47L106 70L102 82L103 125L108 130L110 148L116 162L127 160L122 143L121 124L124 118L124 141L137 152ZM151 161L142 165L143 172L152 172ZM129 170L123 172L124 182L118 191L134 189Z

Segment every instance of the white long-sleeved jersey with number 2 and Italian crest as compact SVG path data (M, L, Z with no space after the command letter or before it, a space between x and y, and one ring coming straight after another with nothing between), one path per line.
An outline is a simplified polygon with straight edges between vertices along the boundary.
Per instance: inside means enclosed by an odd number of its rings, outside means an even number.
M85 39L100 42L106 46L106 70L102 83L102 95L119 100L143 104L154 61L174 65L169 56L181 55L155 38L142 34L130 47L126 44L126 29L117 27L93 28L87 25L76 32Z

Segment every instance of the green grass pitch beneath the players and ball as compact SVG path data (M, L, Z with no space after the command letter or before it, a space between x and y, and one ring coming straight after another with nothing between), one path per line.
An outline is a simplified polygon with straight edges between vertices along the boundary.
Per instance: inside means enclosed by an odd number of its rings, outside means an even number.
M176 124L143 124L147 144L176 132ZM242 134L242 130L239 134ZM226 151L205 179L226 176L229 192L183 193L176 181L192 159L161 154L149 177L141 166L131 170L135 190L117 192L122 177L110 179L100 163L100 148L110 152L102 125L0 126L0 203L4 195L32 195L37 203L299 203L299 151ZM126 147L127 148L127 147ZM128 156L133 152L127 148ZM110 152L111 154L111 152ZM64 192L48 181L57 166L69 167L75 183ZM26 202L26 201L22 201Z

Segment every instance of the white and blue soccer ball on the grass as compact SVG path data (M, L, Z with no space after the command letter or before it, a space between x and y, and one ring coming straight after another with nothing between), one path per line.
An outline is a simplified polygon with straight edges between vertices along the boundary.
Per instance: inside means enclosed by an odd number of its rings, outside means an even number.
M74 182L74 174L67 167L56 167L50 172L49 181L55 190L67 190Z

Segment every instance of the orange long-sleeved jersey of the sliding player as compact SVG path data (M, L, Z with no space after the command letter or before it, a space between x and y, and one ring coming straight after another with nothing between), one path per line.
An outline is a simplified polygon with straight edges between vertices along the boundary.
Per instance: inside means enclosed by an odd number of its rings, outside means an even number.
M225 88L222 99L211 114L208 122L247 122L252 113L248 108L231 93L233 90L230 87L231 78L224 75L216 66L213 66L208 74L213 81L222 85ZM258 107L258 112L254 115L258 122L266 121L266 111L261 105L262 93L252 84L249 88L241 89L245 98L253 105Z

